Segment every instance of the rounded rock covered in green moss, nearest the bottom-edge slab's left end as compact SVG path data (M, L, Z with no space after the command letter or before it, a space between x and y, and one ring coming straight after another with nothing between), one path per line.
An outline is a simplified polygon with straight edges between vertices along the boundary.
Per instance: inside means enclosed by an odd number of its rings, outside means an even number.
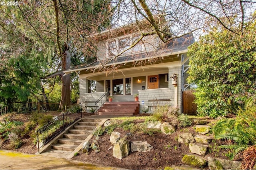
M185 154L181 162L196 168L204 168L207 161L205 158L198 156L196 154Z

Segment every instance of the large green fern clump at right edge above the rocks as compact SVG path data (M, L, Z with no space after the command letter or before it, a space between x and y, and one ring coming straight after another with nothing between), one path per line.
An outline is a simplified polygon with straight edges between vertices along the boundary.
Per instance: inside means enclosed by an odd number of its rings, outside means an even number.
M222 145L220 148L231 149L234 154L238 154L250 145L256 145L255 101L255 97L248 98L244 109L239 107L236 119L223 119L216 123L213 128L215 138L235 142L234 145Z

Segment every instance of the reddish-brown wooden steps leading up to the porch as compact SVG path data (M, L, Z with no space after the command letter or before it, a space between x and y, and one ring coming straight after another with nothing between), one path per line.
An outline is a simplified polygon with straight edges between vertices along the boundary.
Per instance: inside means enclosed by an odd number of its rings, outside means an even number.
M137 115L140 102L105 102L98 110L99 115Z

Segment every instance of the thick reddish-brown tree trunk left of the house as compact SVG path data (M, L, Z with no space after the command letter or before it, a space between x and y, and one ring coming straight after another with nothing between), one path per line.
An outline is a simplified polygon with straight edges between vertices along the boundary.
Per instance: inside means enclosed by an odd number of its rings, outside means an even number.
M62 57L62 70L64 71L64 70L70 69L70 64L71 64L71 57L66 47L66 51ZM68 109L68 106L70 106L71 104L70 96L71 96L70 74L67 74L66 76L62 76L61 100L60 100L60 106L58 110Z

